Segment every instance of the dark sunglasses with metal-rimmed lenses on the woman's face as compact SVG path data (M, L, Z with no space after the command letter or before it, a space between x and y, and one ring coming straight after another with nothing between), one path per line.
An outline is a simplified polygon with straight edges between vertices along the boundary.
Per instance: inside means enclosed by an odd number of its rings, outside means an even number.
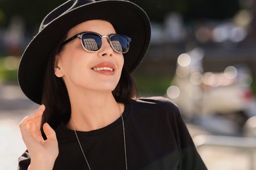
M78 33L77 35L74 35L70 39L67 39L66 41L62 42L60 47L64 46L64 44L74 40L75 38L78 38L81 40L81 44L83 45L83 48L87 52L97 52L98 50L100 50L100 47L102 46L102 39L104 37L106 37L108 39L110 46L116 52L119 52L119 53L128 52L129 43L131 42L130 37L127 37L125 35L120 35L120 34L100 35L95 32Z

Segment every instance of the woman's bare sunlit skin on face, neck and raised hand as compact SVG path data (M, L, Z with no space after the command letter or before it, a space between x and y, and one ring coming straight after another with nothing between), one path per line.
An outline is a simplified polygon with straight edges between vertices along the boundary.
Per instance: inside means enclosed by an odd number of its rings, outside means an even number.
M109 22L91 20L70 29L66 39L83 31L100 35L116 33ZM123 62L123 54L115 52L106 38L102 39L98 52L84 50L80 39L64 45L62 52L56 56L54 72L64 80L68 89L72 107L70 121L66 124L69 129L75 127L77 131L91 131L108 126L121 116L124 105L116 102L112 91L119 82ZM108 69L98 71L100 67ZM44 141L41 136L44 110L45 106L41 105L20 122L22 138L31 156L29 169L53 169L58 156L58 141L49 124L43 126L47 140Z

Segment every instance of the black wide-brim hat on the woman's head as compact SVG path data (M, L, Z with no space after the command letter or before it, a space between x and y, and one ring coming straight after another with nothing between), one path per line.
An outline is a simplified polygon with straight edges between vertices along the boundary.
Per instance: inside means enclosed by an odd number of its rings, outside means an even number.
M132 73L148 50L151 27L146 12L129 1L67 1L50 12L41 23L39 33L27 46L18 68L22 92L41 104L47 60L64 35L87 20L106 20L117 33L131 37L129 52L123 54L124 67Z

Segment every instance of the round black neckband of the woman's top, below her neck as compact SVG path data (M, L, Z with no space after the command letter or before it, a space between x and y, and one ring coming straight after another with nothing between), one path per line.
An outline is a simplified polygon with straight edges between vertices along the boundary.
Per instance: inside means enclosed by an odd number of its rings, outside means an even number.
M129 114L130 104L124 103L124 105L125 105L125 108L123 110L122 116L123 116L123 120L125 121L125 119L127 118L128 114ZM102 127L100 129L95 129L92 131L76 131L76 132L77 132L77 135L79 135L79 136L99 135L101 133L104 133L106 131L110 131L111 129L114 129L117 126L121 126L121 124L122 124L122 120L121 120L121 116L119 116L119 118L117 118L117 120L115 120L111 124L108 124L107 126ZM68 129L66 127L66 124L64 124L64 122L61 122L58 127L65 133L68 133L69 135L74 136L74 130Z

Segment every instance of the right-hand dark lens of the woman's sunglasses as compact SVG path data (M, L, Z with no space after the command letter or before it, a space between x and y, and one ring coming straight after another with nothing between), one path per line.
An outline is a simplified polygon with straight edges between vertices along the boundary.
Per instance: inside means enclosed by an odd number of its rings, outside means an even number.
M129 50L129 39L123 35L112 35L110 37L112 47L121 53L128 52Z

